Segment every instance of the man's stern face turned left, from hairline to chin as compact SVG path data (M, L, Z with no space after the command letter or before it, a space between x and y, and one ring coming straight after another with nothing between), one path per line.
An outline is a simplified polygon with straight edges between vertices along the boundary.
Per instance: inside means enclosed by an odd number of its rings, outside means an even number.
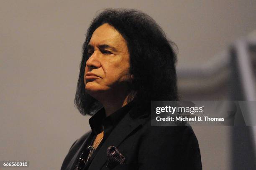
M88 45L84 83L88 94L126 90L129 75L129 53L125 39L115 28L105 23L92 34Z

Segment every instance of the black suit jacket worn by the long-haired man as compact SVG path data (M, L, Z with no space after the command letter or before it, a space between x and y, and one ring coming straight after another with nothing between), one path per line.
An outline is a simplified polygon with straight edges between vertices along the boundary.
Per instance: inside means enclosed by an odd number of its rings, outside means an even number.
M70 148L61 170L74 170L91 131ZM151 126L150 114L138 114L133 107L116 125L87 170L110 170L107 148L115 146L125 162L112 170L202 170L197 138L190 126Z

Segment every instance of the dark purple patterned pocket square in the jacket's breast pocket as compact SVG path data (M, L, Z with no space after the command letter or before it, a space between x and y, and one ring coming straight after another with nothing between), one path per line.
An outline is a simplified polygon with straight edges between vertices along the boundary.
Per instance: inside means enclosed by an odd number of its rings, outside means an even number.
M106 167L110 167L110 168L123 164L123 162L125 161L125 157L114 146L108 147L107 157L108 157L108 162Z

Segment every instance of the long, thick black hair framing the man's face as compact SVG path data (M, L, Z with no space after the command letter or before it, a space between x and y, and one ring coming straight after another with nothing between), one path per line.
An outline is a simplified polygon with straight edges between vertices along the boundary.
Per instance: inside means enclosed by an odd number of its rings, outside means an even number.
M141 109L150 109L152 100L178 100L176 60L172 41L147 14L134 9L106 9L97 15L86 33L74 104L83 115L93 115L102 107L85 91L84 69L92 33L102 24L113 26L126 40L130 54L133 101Z

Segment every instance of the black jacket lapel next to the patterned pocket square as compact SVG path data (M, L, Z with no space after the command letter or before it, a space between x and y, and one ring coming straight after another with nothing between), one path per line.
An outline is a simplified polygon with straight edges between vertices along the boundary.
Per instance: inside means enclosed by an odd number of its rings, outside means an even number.
M102 144L100 150L97 152L89 162L90 167L88 170L100 170L100 168L107 161L107 149L110 146L115 146L118 148L121 142L133 132L137 127L143 123L143 119L140 117L133 118L131 115L136 112L136 107L133 107L130 112L128 112L125 117L116 125L113 131L108 136L107 140ZM144 114L143 114L144 115ZM88 164L87 164L88 165Z

